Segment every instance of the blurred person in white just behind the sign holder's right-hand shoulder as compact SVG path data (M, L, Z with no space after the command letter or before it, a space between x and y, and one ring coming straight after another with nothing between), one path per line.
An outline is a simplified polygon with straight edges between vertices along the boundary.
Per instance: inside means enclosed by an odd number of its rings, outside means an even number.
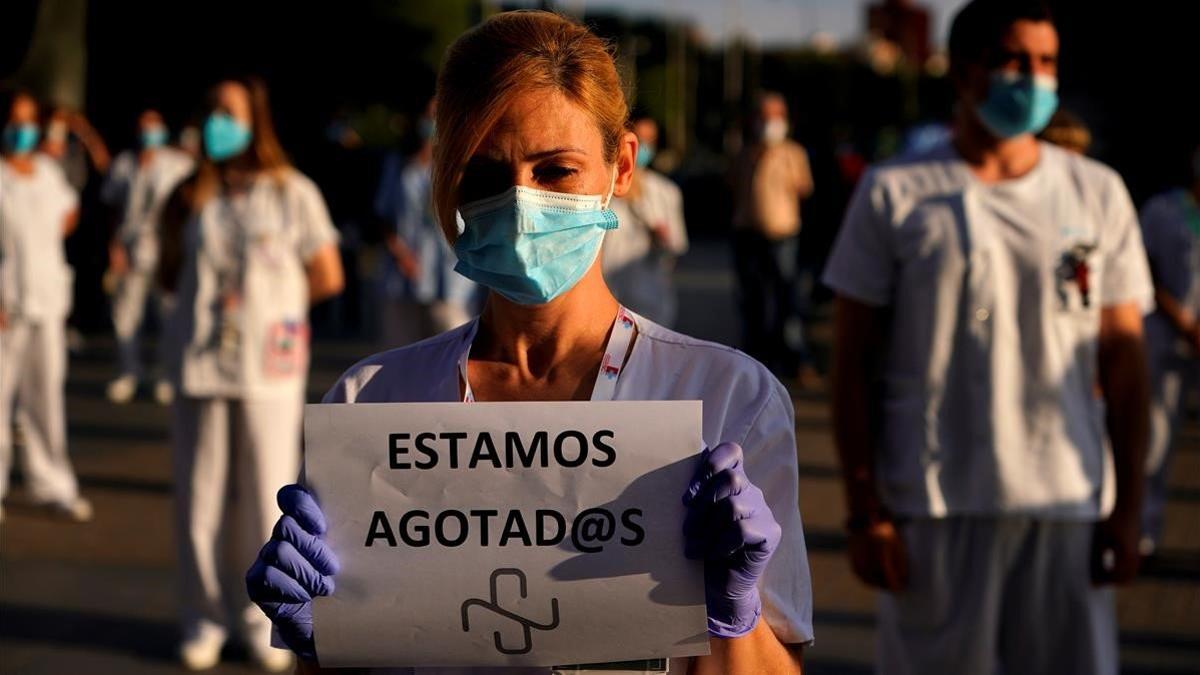
M671 327L679 305L671 275L676 258L688 251L683 192L650 168L659 145L658 123L638 114L631 129L637 135L637 166L629 193L612 201L622 227L605 235L604 277L623 305Z

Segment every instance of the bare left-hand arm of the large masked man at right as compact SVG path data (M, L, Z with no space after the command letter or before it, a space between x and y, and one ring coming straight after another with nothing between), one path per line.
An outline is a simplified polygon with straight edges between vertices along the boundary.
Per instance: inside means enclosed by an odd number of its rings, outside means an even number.
M907 555L875 482L877 440L872 388L883 353L883 310L838 295L834 322L833 424L846 489L850 561L864 583L899 591Z

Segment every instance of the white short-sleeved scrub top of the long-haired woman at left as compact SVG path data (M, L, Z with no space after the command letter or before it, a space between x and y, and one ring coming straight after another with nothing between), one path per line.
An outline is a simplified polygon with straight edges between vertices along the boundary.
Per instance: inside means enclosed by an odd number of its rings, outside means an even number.
M337 231L299 172L259 177L188 219L168 334L187 396L298 398L308 372L306 263ZM239 298L223 309L223 298Z

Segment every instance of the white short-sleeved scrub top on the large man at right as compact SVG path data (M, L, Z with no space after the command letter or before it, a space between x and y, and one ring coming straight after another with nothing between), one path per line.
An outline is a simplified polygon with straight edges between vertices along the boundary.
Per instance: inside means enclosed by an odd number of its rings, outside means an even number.
M1111 508L1100 309L1153 306L1146 253L1116 172L1039 151L989 185L944 143L870 171L846 213L824 282L889 311L877 467L899 514Z

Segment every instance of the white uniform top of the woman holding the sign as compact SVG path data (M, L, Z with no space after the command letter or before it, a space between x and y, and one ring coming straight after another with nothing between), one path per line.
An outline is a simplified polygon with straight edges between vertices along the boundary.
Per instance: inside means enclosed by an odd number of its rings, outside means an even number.
M715 447L732 441L744 448L746 474L762 489L784 530L760 580L762 616L780 641L811 643L812 587L797 508L796 425L787 390L766 368L737 350L680 335L632 312L630 316L637 336L612 399L702 400L704 443ZM324 402L461 401L458 364L478 325L476 319L424 342L368 357L342 376ZM686 659L672 659L671 673L686 671ZM386 673L545 675L550 669L416 668Z

